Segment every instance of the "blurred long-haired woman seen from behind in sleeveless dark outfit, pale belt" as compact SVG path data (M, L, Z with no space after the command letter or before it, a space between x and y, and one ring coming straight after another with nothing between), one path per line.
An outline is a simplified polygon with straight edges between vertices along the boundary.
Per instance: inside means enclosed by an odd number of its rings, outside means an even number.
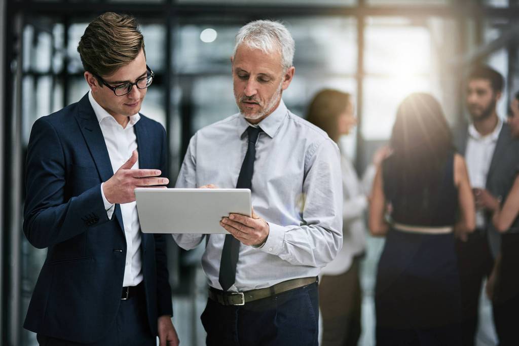
M453 230L471 231L475 214L465 161L440 104L425 93L400 104L390 146L369 219L372 234L386 236L375 289L377 345L459 345Z

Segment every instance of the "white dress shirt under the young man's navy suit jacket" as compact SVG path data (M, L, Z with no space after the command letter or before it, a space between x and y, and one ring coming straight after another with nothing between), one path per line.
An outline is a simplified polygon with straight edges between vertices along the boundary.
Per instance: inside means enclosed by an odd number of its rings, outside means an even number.
M135 136L133 126L139 121L141 116L135 114L129 117L130 121L126 128L122 128L115 118L94 100L91 91L88 92L88 99L94 109L95 116L98 118L104 142L108 149L108 156L110 156L110 163L115 173L123 163L128 161L133 150L137 150L137 137ZM132 169L139 169L139 161L135 162ZM115 207L104 196L103 184L101 184L101 196L103 196L108 218L111 219ZM119 204L119 206L121 208L122 225L125 227L126 238L125 275L122 286L136 286L143 280L139 215L137 214L135 202Z

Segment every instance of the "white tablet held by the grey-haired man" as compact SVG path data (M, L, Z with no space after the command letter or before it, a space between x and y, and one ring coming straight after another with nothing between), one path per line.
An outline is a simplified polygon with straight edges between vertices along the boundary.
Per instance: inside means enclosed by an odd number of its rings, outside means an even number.
M230 213L251 216L249 189L135 189L144 233L228 233L220 220Z

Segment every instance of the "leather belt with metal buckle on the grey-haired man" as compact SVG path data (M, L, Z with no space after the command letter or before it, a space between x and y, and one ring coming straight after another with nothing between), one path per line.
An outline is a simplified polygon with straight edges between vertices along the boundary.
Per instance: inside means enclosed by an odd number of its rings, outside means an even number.
M318 282L317 276L299 278L280 282L274 286L252 289L246 292L224 292L223 290L209 287L209 298L221 305L245 305L245 303L276 296L291 289L308 286Z

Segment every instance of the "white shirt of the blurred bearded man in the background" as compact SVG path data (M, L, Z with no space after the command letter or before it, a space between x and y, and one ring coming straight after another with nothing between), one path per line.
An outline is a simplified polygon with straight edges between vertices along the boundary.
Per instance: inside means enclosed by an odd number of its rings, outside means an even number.
M469 171L469 181L473 188L482 188L486 186L488 170L490 162L494 156L497 139L503 122L498 119L496 128L491 133L483 136L477 132L474 124L469 126L469 136L467 139L467 149L465 150L465 160L467 161L467 170ZM476 227L485 228L485 215L483 211L476 211Z

